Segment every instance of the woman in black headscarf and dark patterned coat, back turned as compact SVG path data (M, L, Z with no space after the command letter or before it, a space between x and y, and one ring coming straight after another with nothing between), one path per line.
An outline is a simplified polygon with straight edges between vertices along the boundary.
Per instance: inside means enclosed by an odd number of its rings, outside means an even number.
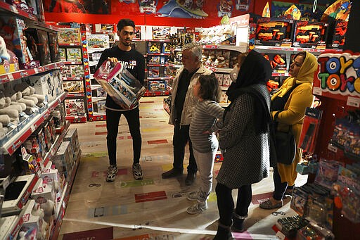
M271 100L266 82L270 77L269 61L257 51L250 51L236 82L226 91L231 103L224 113L224 127L219 131L224 161L217 176L220 218L214 239L232 239L231 229L244 231L243 222L252 198L251 184L269 175ZM235 209L232 189L238 189Z

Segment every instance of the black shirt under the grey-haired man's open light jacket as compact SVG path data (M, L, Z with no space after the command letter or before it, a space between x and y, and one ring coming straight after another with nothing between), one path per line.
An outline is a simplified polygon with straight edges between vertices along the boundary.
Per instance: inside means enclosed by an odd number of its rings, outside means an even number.
M184 108L185 97L186 93L188 92L188 85L190 84L191 77L193 77L196 71L198 71L198 69L196 69L194 72L188 72L188 70L184 69L183 72L181 72L175 99L176 122L181 121L181 112Z

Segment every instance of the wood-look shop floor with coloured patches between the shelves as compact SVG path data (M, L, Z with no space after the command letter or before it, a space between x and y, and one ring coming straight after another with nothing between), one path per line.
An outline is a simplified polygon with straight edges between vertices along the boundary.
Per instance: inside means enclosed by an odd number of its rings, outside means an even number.
M132 141L124 117L117 137L118 173L115 182L105 182L108 169L105 122L72 124L79 132L82 149L75 184L59 239L212 239L217 229L217 198L214 192L209 208L198 215L188 215L190 191L198 189L184 184L184 175L162 179L162 172L172 168L172 131L169 115L162 107L163 97L141 99L141 134L143 146L141 167L144 179L135 181L131 173ZM187 151L188 152L188 151ZM188 163L188 153L184 162ZM221 163L215 163L214 176ZM307 181L299 176L297 185ZM295 215L290 209L290 198L276 210L259 208L274 188L272 176L253 184L254 194L245 220L247 232L235 234L236 239L276 239L271 227L282 217ZM235 196L236 191L233 191ZM276 211L274 213L274 211ZM274 213L274 214L272 214ZM282 214L283 215L282 215ZM91 236L93 238L91 238Z

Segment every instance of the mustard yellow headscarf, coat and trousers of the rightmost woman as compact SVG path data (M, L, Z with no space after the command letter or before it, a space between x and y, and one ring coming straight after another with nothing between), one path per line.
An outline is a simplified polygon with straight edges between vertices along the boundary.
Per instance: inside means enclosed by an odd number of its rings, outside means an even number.
M300 134L302 130L302 123L304 122L305 110L310 107L314 101L312 95L312 83L314 82L314 72L318 68L316 57L307 52L307 56L302 63L297 77L288 77L281 88L272 96L271 100L276 97L283 97L283 95L291 89L294 84L299 84L290 94L288 101L285 103L284 110L278 115L278 130L287 131L288 126L292 126L296 145L299 145ZM275 115L277 111L271 114ZM296 165L300 162L302 150L297 148L295 160L292 165L284 165L278 163L278 172L281 177L281 182L288 182L289 186L295 184L297 177Z

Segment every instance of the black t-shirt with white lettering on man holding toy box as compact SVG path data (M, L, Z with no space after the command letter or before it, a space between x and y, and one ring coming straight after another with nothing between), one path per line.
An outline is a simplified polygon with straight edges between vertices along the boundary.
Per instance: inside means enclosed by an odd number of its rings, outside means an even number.
M145 78L145 58L139 51L133 48L131 48L130 51L122 51L117 45L111 49L105 49L101 54L96 70L100 68L105 60L113 57L117 58L117 60L124 65L124 68L127 68L127 70L143 84L143 79ZM122 109L109 94L106 97L105 106L113 109Z

